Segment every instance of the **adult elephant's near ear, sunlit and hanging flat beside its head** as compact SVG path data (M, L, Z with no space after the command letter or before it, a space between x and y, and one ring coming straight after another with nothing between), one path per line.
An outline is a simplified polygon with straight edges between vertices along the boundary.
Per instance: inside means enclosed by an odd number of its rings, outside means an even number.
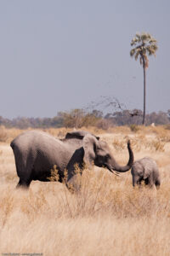
M84 148L84 162L86 164L92 165L95 156L96 156L96 148L98 145L98 140L91 134L86 135L82 140L82 146Z

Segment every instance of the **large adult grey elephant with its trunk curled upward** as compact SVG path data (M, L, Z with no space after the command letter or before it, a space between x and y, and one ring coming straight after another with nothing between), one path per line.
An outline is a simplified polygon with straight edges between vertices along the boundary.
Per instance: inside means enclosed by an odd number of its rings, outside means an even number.
M64 139L57 139L47 132L26 131L11 143L18 176L17 187L29 187L32 180L49 181L51 170L57 167L59 182L63 181L65 169L67 181L75 175L75 164L82 170L85 164L106 167L111 172L127 172L133 165L133 151L127 143L129 160L127 166L116 163L111 149L99 137L87 131L73 131Z

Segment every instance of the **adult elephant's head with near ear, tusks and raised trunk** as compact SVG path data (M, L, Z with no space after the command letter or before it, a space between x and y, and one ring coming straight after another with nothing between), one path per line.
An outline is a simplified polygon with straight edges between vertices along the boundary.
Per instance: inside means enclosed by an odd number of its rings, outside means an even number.
M106 167L111 172L127 172L133 166L133 151L130 141L127 142L129 153L127 166L119 166L111 154L108 144L90 134L83 138L83 148L85 163L92 164L94 162L95 166Z

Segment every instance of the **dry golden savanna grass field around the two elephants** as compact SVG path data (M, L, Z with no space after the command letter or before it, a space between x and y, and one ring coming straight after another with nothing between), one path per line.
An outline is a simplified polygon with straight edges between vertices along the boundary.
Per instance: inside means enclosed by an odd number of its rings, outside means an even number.
M170 130L165 126L115 127L93 132L127 164L127 139L134 159L150 156L161 174L159 190L133 188L131 172L119 177L94 166L83 171L81 189L58 182L32 182L15 189L10 142L21 130L0 127L0 253L42 255L170 255ZM65 137L67 129L48 129ZM10 254L9 254L10 255Z

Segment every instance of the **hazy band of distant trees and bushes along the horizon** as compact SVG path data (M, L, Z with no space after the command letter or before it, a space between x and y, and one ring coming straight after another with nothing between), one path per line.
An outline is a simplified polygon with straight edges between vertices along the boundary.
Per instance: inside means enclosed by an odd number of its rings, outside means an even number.
M139 109L122 110L113 113L104 114L102 111L94 109L91 113L83 109L74 109L69 112L59 112L53 118L26 118L18 117L15 119L5 119L0 116L0 125L7 128L81 128L82 126L96 126L102 129L108 129L111 126L119 125L141 125L143 112ZM145 125L169 125L170 109L165 112L148 113L145 116Z

